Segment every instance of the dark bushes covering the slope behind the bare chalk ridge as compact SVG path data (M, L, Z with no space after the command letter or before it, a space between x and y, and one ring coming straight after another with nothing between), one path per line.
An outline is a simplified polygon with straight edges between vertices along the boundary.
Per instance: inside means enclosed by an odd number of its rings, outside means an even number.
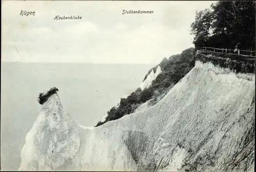
M169 59L164 58L159 64L162 73L153 80L151 86L143 91L138 88L127 98L121 98L119 105L117 107L112 107L108 111L108 116L105 121L99 121L96 126L102 125L108 121L119 119L124 115L131 114L137 109L137 107L145 103L147 100L157 99L158 96L166 94L170 88L179 82L179 80L194 67L194 56L195 49L189 48L184 50L181 54L169 57ZM152 70L156 71L156 69L157 66L152 68L148 74ZM156 100L153 101L153 103L156 103Z

